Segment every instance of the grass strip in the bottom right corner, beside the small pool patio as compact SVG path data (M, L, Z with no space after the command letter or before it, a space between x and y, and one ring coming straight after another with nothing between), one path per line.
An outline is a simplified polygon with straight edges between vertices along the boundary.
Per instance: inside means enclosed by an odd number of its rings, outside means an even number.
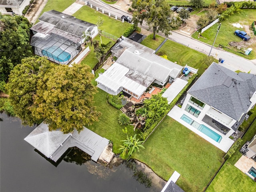
M234 166L234 164L242 156L239 149L247 140L251 140L255 134L256 121L254 121L249 130L243 136L243 142L233 156L226 160L225 164L222 166L210 186L207 188L206 192L255 191L256 182Z

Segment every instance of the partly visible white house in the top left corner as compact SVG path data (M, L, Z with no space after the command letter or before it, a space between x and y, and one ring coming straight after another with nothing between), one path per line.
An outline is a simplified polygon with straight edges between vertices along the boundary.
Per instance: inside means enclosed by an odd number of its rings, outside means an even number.
M30 0L1 0L0 12L2 14L22 15L24 8L29 5Z

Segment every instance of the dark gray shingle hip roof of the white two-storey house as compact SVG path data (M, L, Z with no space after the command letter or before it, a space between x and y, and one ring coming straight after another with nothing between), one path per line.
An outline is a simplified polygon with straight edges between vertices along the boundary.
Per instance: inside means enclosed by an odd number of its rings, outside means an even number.
M233 72L213 62L188 93L239 121L256 91L254 74Z

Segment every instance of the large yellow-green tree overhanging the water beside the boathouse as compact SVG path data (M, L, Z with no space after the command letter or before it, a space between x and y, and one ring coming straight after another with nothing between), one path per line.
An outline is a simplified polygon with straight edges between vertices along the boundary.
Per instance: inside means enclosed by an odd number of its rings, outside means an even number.
M23 59L7 84L16 115L28 125L45 120L49 130L83 130L100 115L93 105L96 88L89 71L88 66L54 65L38 56Z

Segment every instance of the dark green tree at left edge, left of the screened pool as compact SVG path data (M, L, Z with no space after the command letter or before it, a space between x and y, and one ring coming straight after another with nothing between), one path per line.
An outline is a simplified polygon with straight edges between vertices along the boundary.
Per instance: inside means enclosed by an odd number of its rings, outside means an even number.
M22 58L32 56L30 46L31 24L24 16L0 14L0 81L6 82L10 71Z

